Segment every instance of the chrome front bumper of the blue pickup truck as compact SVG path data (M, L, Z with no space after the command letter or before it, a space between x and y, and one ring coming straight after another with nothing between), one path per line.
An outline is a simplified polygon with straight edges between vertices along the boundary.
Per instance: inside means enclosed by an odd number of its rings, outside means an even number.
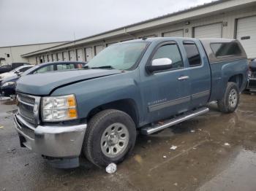
M20 146L45 157L72 158L80 155L86 124L71 126L41 126L34 128L19 114L14 115Z

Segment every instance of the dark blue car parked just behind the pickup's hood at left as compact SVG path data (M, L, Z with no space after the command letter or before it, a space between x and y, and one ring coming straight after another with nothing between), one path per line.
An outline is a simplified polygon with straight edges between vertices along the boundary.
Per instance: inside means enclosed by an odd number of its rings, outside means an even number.
M23 74L19 74L18 72L15 73L15 76L8 77L0 82L0 94L4 96L15 95L15 87L16 81L23 76L29 74L39 74L45 73L49 71L62 71L62 70L70 70L70 69L82 69L83 62L51 62L51 63L42 63L37 66L28 69L27 71L23 72Z

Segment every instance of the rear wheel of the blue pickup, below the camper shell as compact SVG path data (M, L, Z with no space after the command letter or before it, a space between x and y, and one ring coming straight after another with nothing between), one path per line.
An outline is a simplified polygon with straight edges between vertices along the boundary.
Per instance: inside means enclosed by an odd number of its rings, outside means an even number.
M239 98L238 85L234 82L227 82L225 94L223 98L218 101L219 111L223 113L234 112L238 107Z

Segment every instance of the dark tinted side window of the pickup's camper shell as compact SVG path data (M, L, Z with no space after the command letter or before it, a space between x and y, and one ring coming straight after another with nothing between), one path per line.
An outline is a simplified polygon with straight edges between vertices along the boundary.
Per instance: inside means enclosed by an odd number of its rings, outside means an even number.
M214 55L218 57L241 55L241 49L236 42L222 42L210 44Z

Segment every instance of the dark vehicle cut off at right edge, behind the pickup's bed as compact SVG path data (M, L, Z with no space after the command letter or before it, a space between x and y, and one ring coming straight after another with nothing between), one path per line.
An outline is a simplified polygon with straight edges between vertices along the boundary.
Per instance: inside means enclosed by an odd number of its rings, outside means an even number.
M256 58L249 62L248 83L245 91L256 90Z

